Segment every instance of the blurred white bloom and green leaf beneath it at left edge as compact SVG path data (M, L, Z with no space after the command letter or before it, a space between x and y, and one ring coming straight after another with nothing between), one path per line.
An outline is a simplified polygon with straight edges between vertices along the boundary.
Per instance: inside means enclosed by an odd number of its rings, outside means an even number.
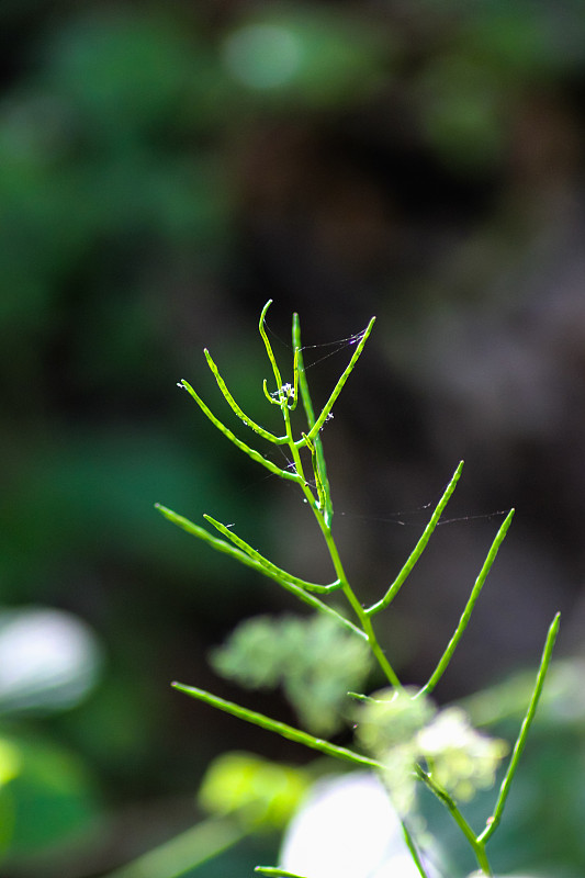
M100 668L93 632L71 614L47 607L0 612L0 855L8 868L87 843L99 825L89 766L26 720L75 707Z

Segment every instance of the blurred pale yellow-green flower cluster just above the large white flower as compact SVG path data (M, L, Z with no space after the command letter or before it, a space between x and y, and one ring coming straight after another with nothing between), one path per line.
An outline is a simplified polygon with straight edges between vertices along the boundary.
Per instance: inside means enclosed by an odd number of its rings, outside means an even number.
M415 765L426 766L431 780L454 799L466 801L491 787L505 741L477 732L458 707L438 710L413 689L383 689L362 702L356 738L384 765L384 780L397 810L415 803Z

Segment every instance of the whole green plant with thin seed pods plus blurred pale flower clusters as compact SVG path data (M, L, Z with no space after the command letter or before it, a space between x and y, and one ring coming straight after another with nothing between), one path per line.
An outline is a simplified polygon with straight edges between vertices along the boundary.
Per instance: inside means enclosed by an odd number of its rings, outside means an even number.
M292 381L284 382L265 327L270 304L271 301L267 302L262 309L259 331L272 368L275 389L270 391L265 380L263 393L268 403L280 409L284 426L281 436L259 426L244 413L232 396L207 350L205 357L232 410L259 439L288 449L291 458L289 468L277 465L256 448L240 440L211 412L187 381L181 381L179 386L188 391L212 424L240 451L270 473L297 485L323 534L335 578L330 583L318 584L286 572L238 537L230 526L217 521L210 515L205 515L204 518L220 536L212 534L165 506L157 504L157 508L173 524L205 541L213 549L273 579L322 615L323 619L317 618L317 621L310 617L308 620L285 619L275 622L260 618L246 622L213 658L221 673L245 685L266 687L282 683L311 731L279 722L193 686L179 683L173 686L192 698L306 747L380 773L400 814L406 844L423 878L428 878L428 871L425 865L424 845L417 837L413 813L416 808L416 789L420 786L426 787L446 807L469 844L480 870L477 875L492 876L486 843L502 819L550 664L560 617L556 615L550 626L532 696L504 773L495 806L485 825L476 832L463 815L460 803L470 799L477 788L494 784L496 768L507 747L504 742L476 732L460 709L447 708L438 711L429 696L449 665L468 626L487 574L508 531L514 510L506 516L496 533L459 624L435 671L421 687L405 687L379 642L374 618L390 607L425 550L455 488L462 463L458 465L428 525L394 582L383 597L369 607L362 606L348 579L333 533L334 507L320 430L330 417L334 404L364 349L375 318L372 318L365 330L356 337L356 348L347 368L322 412L316 415L306 381L299 317L296 314L293 316L292 326L294 351ZM299 438L295 438L293 413L300 399L306 418L306 428L300 431ZM348 618L339 606L328 603L331 595L342 596L346 611L349 610L351 618ZM348 648L349 642L356 646L355 650ZM348 691L350 688L364 685L372 663L378 665L378 673L383 675L386 687L373 696ZM347 698L348 695L351 700ZM356 723L356 747L339 746L316 736L315 732L335 731L344 716ZM257 868L267 875L290 875L278 867Z

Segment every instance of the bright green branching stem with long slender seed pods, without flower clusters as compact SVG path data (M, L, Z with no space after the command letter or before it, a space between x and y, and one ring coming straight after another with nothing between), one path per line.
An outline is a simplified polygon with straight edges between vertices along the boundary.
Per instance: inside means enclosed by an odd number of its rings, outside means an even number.
M413 567L415 566L423 551L425 550L435 528L439 524L445 507L447 506L447 503L449 502L449 498L451 497L457 486L457 483L460 479L463 463L461 462L457 468L455 472L453 473L453 476L451 477L451 481L447 485L447 488L445 489L435 511L432 513L429 522L427 524L413 552L410 553L409 558L407 559L406 563L400 571L394 582L390 585L386 593L380 600L378 600L372 606L364 608L360 603L359 598L357 597L352 586L349 583L346 571L344 569L344 564L341 562L341 556L337 543L331 532L331 520L334 515L334 508L333 508L329 482L327 479L327 468L325 463L325 454L323 450L320 430L324 427L325 423L331 417L333 406L336 403L341 390L344 389L349 375L351 374L358 359L360 358L363 351L365 342L372 331L375 317L372 317L364 331L356 337L355 339L357 341L356 349L352 353L352 357L348 365L341 373L341 376L337 381L337 384L335 385L333 392L329 395L329 398L325 403L320 413L318 415L315 415L315 409L308 391L308 384L305 374L299 316L294 314L293 326L292 326L292 347L294 351L292 383L283 384L281 372L278 367L277 359L274 357L274 352L272 350L272 346L268 338L265 326L266 314L268 312L268 308L270 307L271 302L272 300L269 300L266 303L265 307L262 308L258 328L266 348L268 360L272 369L272 374L277 387L273 392L269 392L266 380L262 386L263 386L263 393L268 402L271 405L280 407L284 424L283 436L275 436L271 431L265 429L265 427L257 424L250 417L248 417L248 415L246 415L246 413L239 407L239 405L234 399L232 393L229 392L229 390L225 384L225 381L220 374L218 369L215 365L215 362L213 361L211 354L206 349L205 349L205 358L207 360L207 364L217 382L217 385L224 398L227 401L229 407L235 413L235 415L246 425L246 427L248 427L250 430L252 430L252 432L255 432L258 437L260 437L260 439L270 442L272 446L274 444L288 446L290 449L290 453L292 455L291 468L282 469L281 466L278 466L275 463L272 463L271 460L266 458L260 451L248 446L246 442L239 439L228 427L226 427L211 412L207 405L203 402L203 399L201 399L198 393L187 381L182 381L180 384L188 391L188 393L196 402L203 414L212 421L212 424L220 430L220 432L222 432L227 439L229 439L240 451L247 454L251 460L256 461L257 463L260 463L262 466L268 469L272 474L278 475L281 479L292 481L300 487L303 498L305 503L308 504L315 517L315 520L318 525L318 528L323 534L325 544L327 547L327 552L329 554L333 569L335 571L334 582L331 582L328 585L319 585L317 583L311 583L306 579L303 579L301 577L288 573L282 567L273 564L271 561L265 558L265 555L262 555L257 549L252 548L249 543L247 543L245 540L243 540L240 537L234 533L230 530L230 528L226 527L225 525L217 521L215 518L212 518L211 516L204 516L204 518L213 528L215 528L216 531L218 531L222 534L223 539L212 536L207 530L199 527L198 525L194 525L187 518L177 515L172 510L164 506L160 506L159 504L157 504L157 507L162 513L162 515L170 521L173 521L179 527L183 528L188 532L203 540L216 551L228 554L239 563L248 567L251 567L257 572L261 573L263 576L267 576L275 581L283 588L291 592L300 600L307 604L313 609L319 612L327 614L328 616L334 618L339 624L344 626L347 630L353 632L355 634L365 640L370 646L372 655L374 656L381 669L383 671L384 676L386 677L390 686L392 686L395 689L402 689L401 680L398 679L396 672L392 667L382 646L379 643L378 637L373 628L372 617L390 606L390 604L393 601L393 599L396 597L400 589L406 582L409 573L412 572ZM299 398L301 398L303 403L303 409L307 426L305 428L305 431L301 430L301 438L295 439L293 431L293 423L291 419L291 413L295 409ZM305 447L311 453L311 476L307 475L307 473L310 472L308 464L306 465L303 464L303 459L301 457L301 450ZM506 519L502 524L492 543L492 547L487 553L485 562L475 581L470 598L468 600L468 604L465 605L465 608L457 626L457 629L447 649L445 650L442 656L440 657L436 669L431 674L427 684L417 691L414 698L424 698L429 693L431 693L437 683L439 682L439 679L441 678L442 674L447 669L449 662L451 661L451 657L453 655L453 652L468 626L471 614L475 606L475 601L477 600L477 597L482 590L482 587L485 583L487 574L490 573L492 564L499 550L499 547L502 545L502 542L509 528L513 515L514 510L511 510L507 515ZM327 595L336 590L344 594L349 605L349 608L351 609L351 611L356 617L355 621L346 619L345 616L341 615L341 612L339 612L337 609L328 606L326 603L324 603L324 600L320 600L318 597L315 597L315 595L312 594L316 592L323 595ZM419 764L414 766L416 777L420 781L423 781L425 786L434 793L434 796L436 796L436 798L439 799L439 801L441 801L442 804L449 810L452 820L454 821L454 823L465 837L468 844L470 845L477 862L477 865L480 867L481 874L483 876L486 876L486 878L493 876L493 873L485 852L485 844L492 836L492 834L494 833L500 821L502 812L504 810L504 806L509 792L510 784L516 773L518 761L525 747L529 728L535 718L540 694L542 691L542 686L544 684L544 677L548 667L550 665L552 650L554 646L554 641L556 638L558 630L559 630L559 615L555 616L549 629L532 697L528 706L528 710L524 719L522 725L520 728L518 740L516 741L516 745L514 747L506 775L502 783L499 796L495 803L492 817L488 818L486 828L483 830L483 832L481 832L479 835L474 833L474 831L472 830L472 828L470 826L470 824L459 810L457 802L449 793L449 791L446 790L434 779L432 773L430 770L430 768L432 767L430 763L425 763L425 761L423 759L423 764L426 765L427 769L429 770L425 770L425 768ZM347 747L340 747L329 743L328 741L323 741L322 739L317 739L314 735L308 734L307 732L304 732L300 729L295 729L291 725L279 722L277 720L270 719L269 717L266 717L262 713L257 713L256 711L248 710L230 701L226 701L203 689L198 689L191 686L184 686L182 684L173 684L173 685L176 688L180 689L187 695L190 695L193 698L204 701L235 717L239 717L240 719L244 719L247 722L255 723L256 725L259 725L263 729L268 729L292 741L296 741L297 743L311 747L312 750L316 750L320 753L334 756L336 758L345 759L347 762L353 763L355 765L360 765L362 767L376 769L379 772L384 772L385 769L383 761L379 762L378 759L372 759L369 756L361 755L360 753L357 753L352 750L348 750ZM359 694L357 694L356 697L365 698L365 696L360 696ZM403 825L404 837L408 846L408 849L410 852L410 855L413 857L413 862L417 867L421 878L428 878L428 875L425 870L425 866L419 856L415 838L410 835L410 832L408 831L408 828L404 821L402 821L402 825ZM278 869L277 867L258 867L257 870L266 875L291 876L291 878L297 878L290 873L283 871L282 869ZM124 876L125 875L126 873L124 873ZM128 878L130 875L131 874L128 873ZM132 875L134 875L134 873L132 873ZM121 878L122 878L122 873L121 873Z

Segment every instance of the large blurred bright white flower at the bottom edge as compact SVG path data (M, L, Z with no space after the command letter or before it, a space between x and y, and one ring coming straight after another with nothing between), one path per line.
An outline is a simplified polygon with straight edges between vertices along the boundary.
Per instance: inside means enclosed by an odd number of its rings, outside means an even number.
M363 772L313 787L285 833L280 867L304 878L420 878L382 783Z

